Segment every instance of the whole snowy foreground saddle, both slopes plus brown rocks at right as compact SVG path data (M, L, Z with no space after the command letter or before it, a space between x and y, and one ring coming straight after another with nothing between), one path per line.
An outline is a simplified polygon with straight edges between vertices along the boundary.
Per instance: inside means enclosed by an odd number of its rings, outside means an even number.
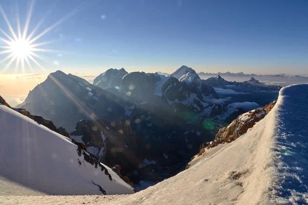
M104 194L133 189L72 139L0 105L4 194L0 200L4 204L306 204L307 94L307 85L282 88L277 102L240 115L203 144L189 169L143 191L111 196ZM108 136L103 133L102 138ZM142 166L153 163L145 160ZM35 196L73 193L103 196Z

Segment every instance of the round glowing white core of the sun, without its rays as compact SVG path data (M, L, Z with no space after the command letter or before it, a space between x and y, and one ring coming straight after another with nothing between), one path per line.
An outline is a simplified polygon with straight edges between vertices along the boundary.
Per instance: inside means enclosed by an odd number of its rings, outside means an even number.
M25 60L25 58L33 52L31 44L25 39L13 40L9 43L9 47L13 56L21 60Z

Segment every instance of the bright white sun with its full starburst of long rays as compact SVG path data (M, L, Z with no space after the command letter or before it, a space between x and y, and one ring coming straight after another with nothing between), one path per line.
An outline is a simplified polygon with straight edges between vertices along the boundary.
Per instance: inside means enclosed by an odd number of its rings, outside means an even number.
M0 12L8 26L9 34L0 28L0 41L4 43L0 46L0 73L4 73L6 70L10 69L13 64L15 64L14 73L17 72L19 68L22 69L22 72L25 72L25 65L33 72L33 66L42 69L44 72L44 67L39 63L39 61L44 60L49 63L44 57L39 55L40 52L59 52L56 50L44 49L41 48L44 45L50 44L54 41L48 42L41 42L36 43L36 41L41 38L43 35L48 33L49 31L55 29L57 26L62 24L65 20L70 18L72 15L77 13L82 9L85 4L75 8L73 11L65 15L63 18L58 20L56 23L51 25L50 27L46 28L41 33L35 35L38 28L43 24L44 19L41 18L40 22L36 25L36 27L29 31L29 24L32 16L32 11L34 7L34 1L31 1L28 9L27 9L27 16L25 20L25 25L23 31L21 29L20 17L18 13L18 9L16 12L16 31L12 27L12 23L9 21L2 5L0 4ZM50 12L47 12L50 13ZM29 32L28 32L29 31ZM29 33L29 34L28 34ZM6 55L6 56L5 56ZM5 56L5 57L3 57ZM4 67L3 67L4 66Z

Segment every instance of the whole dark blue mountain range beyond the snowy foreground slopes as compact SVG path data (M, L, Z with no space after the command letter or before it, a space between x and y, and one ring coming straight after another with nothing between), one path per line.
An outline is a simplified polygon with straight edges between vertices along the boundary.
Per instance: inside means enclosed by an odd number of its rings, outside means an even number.
M98 160L144 189L183 170L201 144L247 111L242 105L259 106L249 98L228 103L215 91L225 86L251 93L280 89L254 78L243 83L220 76L204 80L187 66L168 76L109 69L93 84L56 71L17 107L65 128Z

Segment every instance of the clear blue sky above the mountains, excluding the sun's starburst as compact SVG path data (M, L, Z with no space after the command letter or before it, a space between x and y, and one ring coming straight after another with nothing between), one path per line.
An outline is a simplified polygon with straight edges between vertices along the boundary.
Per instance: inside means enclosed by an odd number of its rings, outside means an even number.
M16 5L23 28L28 2L2 3L15 31ZM47 73L101 73L122 67L170 73L186 65L203 72L308 74L305 0L37 0L29 31L46 16L39 34L79 6L37 39L56 40L40 47L56 52L37 53L47 59L38 60ZM3 19L0 27L9 33ZM13 72L21 69L12 65L6 70ZM26 67L25 72L31 71ZM33 72L44 71L33 64Z

